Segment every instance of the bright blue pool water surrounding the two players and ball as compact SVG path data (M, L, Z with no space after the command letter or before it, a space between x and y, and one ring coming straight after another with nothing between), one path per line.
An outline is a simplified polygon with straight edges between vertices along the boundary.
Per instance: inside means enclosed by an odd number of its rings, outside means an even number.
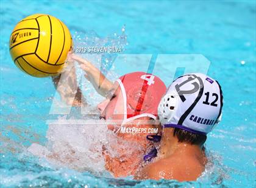
M0 1L1 3L1 187L255 187L256 166L256 3L255 1ZM127 54L202 54L208 75L224 93L222 122L208 135L211 164L196 182L134 181L56 167L27 153L47 143L54 87L15 67L9 36L28 15L56 16L76 32L99 38L127 37ZM125 25L125 34L122 28ZM95 34L96 33L96 34ZM116 34L115 34L116 33ZM91 36L90 34L89 36ZM112 38L112 37L110 37ZM119 38L118 38L119 39ZM117 40L118 40L117 39ZM120 39L119 39L120 40ZM110 44L113 41L110 39ZM121 41L124 42L124 41ZM115 43L115 42L114 42ZM124 44L124 43L122 43ZM148 69L144 62L134 62ZM169 84L170 64L160 64ZM121 71L130 72L130 66Z

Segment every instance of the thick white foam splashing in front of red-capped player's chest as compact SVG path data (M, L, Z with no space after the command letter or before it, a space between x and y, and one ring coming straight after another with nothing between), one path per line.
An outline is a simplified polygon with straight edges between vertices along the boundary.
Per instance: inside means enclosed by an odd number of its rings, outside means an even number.
M32 144L29 152L79 171L100 175L105 171L102 147L108 143L105 126L76 126L51 124L47 132L48 144Z

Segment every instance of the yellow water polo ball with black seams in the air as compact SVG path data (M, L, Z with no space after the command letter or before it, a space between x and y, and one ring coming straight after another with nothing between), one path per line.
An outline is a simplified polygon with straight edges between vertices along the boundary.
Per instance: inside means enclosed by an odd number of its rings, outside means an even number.
M10 55L15 65L35 77L60 73L71 47L68 27L50 15L24 18L10 36Z

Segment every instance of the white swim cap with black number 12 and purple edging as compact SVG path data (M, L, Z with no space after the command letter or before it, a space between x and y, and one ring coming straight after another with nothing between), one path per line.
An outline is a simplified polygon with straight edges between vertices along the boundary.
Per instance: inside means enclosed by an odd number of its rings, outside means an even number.
M174 80L158 105L163 127L177 127L206 135L221 120L222 91L219 83L202 73Z

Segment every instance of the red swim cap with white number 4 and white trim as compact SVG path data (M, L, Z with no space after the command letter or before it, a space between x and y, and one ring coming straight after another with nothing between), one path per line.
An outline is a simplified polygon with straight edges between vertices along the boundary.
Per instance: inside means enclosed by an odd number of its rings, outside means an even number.
M118 80L124 98L124 122L140 117L157 119L157 107L166 86L157 76L133 72Z

